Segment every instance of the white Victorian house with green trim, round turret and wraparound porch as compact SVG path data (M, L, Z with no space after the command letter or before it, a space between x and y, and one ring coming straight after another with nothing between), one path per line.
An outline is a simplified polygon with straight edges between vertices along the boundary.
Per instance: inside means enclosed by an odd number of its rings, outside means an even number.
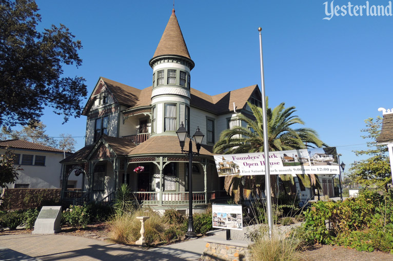
M63 184L76 173L83 176L83 189L76 193L64 187L63 199L110 201L126 183L143 204L187 209L188 157L175 133L183 123L191 137L197 127L205 134L193 159L193 204L203 208L225 200L212 147L224 129L244 124L236 113L252 115L247 101L261 105L258 85L214 96L191 88L195 63L174 9L149 64L152 85L142 90L104 77L97 81L83 111L85 147L61 162ZM188 150L188 140L185 144ZM136 173L139 166L144 170Z

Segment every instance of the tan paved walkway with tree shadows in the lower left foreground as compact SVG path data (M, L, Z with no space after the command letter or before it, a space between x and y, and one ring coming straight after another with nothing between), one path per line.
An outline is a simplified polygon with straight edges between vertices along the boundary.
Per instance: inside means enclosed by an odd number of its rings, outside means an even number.
M0 260L198 260L205 245L198 238L148 249L72 235L10 234L0 236Z

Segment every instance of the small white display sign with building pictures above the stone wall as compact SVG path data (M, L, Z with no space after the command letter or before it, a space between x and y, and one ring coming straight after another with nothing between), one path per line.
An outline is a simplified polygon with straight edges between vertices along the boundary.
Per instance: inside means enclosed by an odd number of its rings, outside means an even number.
M214 228L243 230L242 205L213 204Z

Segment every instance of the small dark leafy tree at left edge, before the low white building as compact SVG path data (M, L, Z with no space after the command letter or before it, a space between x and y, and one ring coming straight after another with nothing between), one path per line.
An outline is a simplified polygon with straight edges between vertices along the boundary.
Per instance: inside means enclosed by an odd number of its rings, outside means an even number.
M14 183L18 179L17 170L23 170L20 166L14 167L15 155L7 148L3 155L0 155L0 187L7 187L8 183Z

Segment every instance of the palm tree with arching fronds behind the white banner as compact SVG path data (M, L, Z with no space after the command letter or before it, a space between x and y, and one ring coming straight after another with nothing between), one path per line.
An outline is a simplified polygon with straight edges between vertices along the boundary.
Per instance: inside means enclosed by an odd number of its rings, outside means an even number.
M268 99L266 97L266 104ZM240 120L247 124L244 126L234 126L224 130L220 135L220 140L214 145L214 153L218 154L238 154L250 152L263 152L263 112L262 108L248 102L251 108L252 118L238 114ZM268 144L269 151L304 149L308 147L322 147L325 145L319 138L315 130L311 128L293 128L293 125L304 124L304 122L294 113L295 107L285 108L285 103L271 108L267 106ZM305 187L316 186L321 188L321 184L315 175L297 175L300 182ZM272 175L275 185L276 175ZM280 175L284 184L294 184L292 175ZM225 190L230 194L234 193L234 200L240 200L240 191L248 198L251 191L260 187L264 176L227 176L225 177ZM244 187L244 188L242 188ZM288 187L288 186L286 186Z

